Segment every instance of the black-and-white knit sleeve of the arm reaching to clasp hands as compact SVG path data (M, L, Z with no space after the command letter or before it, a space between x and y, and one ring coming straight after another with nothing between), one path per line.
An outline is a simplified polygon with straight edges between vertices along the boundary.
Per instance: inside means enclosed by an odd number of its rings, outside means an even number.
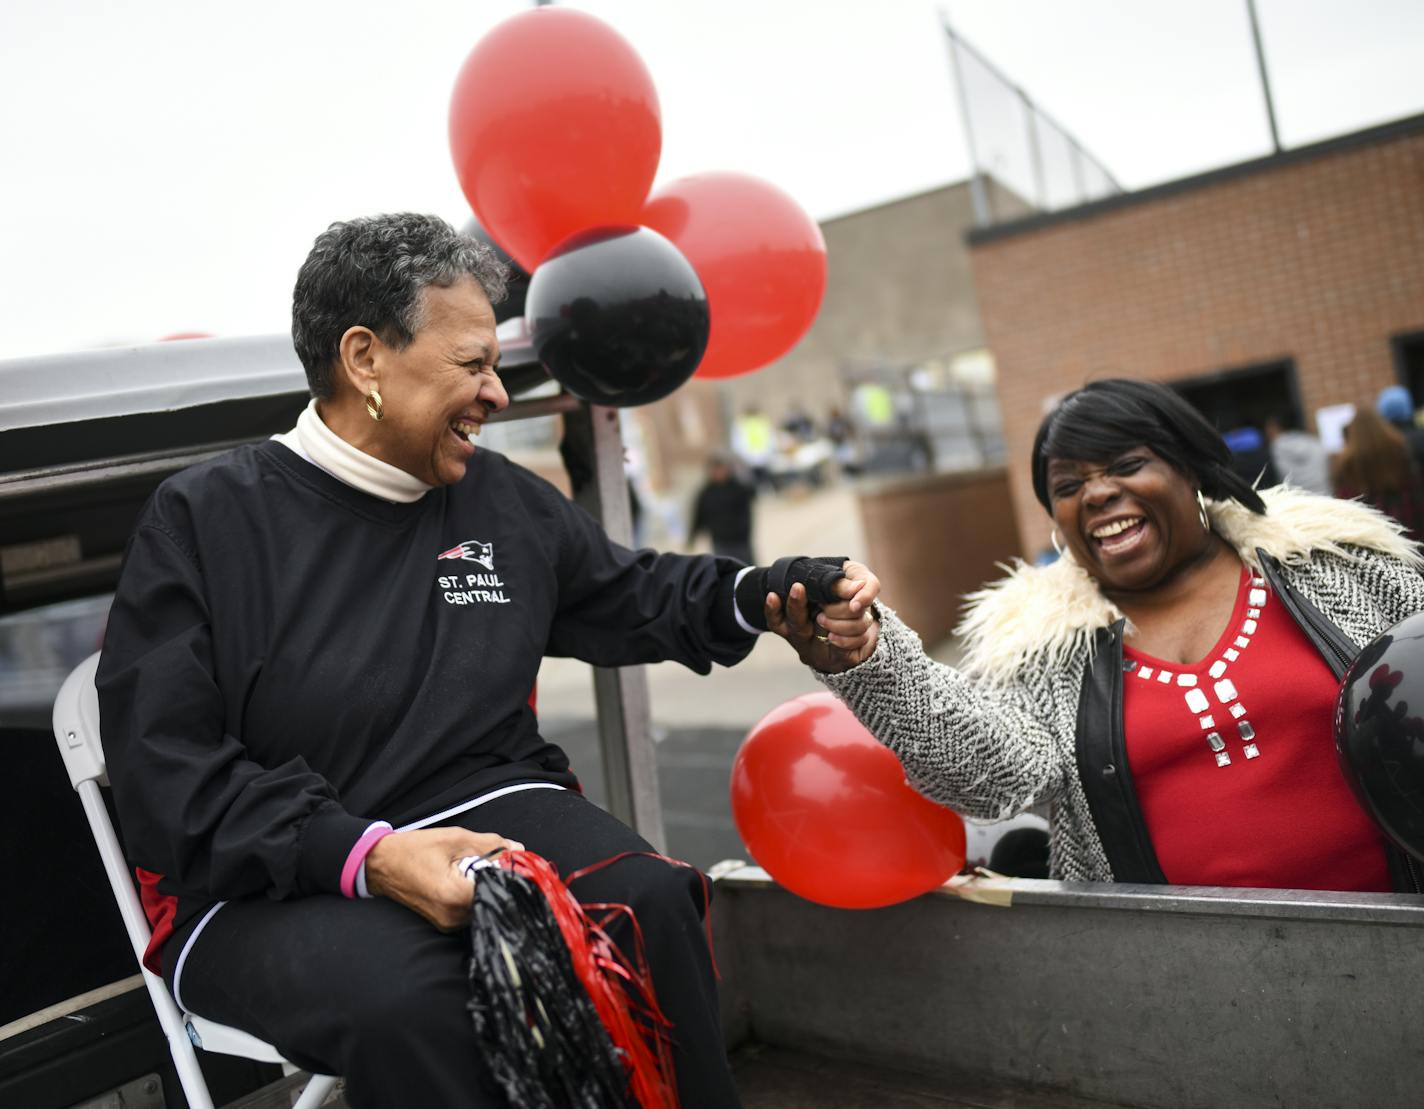
M1002 820L1061 786L1052 685L990 685L936 662L920 636L880 608L874 653L816 675L899 756L926 797L961 816Z

